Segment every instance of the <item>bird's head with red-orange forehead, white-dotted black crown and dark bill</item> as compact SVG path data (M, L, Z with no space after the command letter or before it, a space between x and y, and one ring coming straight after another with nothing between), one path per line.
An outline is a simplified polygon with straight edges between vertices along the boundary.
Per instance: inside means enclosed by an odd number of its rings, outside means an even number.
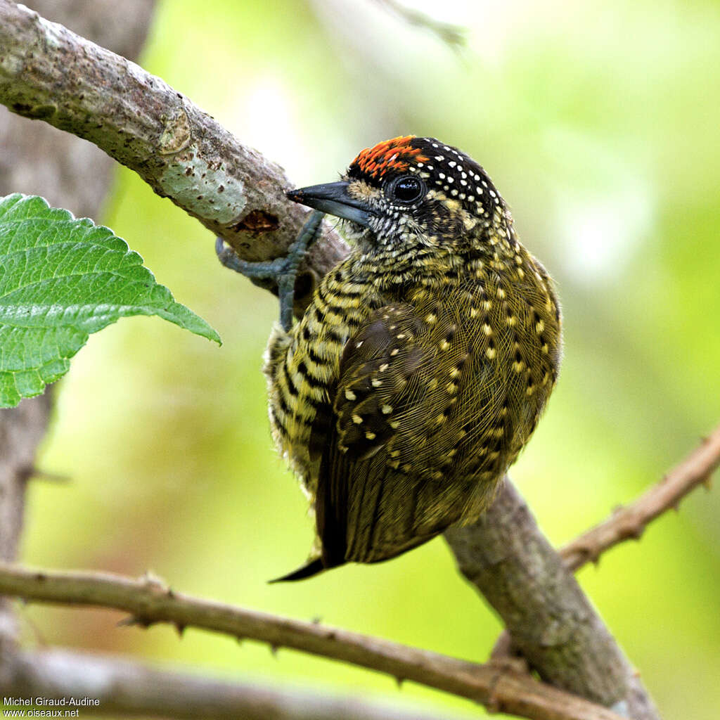
M485 171L435 138L385 140L362 150L340 181L288 197L348 221L364 252L402 243L462 253L492 234L509 239L505 203Z

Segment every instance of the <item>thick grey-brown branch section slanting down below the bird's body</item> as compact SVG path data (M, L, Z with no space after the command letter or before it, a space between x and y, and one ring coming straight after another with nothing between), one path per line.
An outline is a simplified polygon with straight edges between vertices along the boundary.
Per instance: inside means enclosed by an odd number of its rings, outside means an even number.
M657 709L590 600L510 482L480 521L445 537L460 572L503 618L541 678L635 720Z

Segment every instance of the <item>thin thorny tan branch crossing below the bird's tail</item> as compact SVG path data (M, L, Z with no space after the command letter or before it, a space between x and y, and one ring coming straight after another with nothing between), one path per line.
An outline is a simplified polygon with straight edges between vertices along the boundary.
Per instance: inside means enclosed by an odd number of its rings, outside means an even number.
M130 613L130 623L141 626L163 622L180 631L196 627L266 642L272 648L289 647L384 672L398 680L413 680L534 720L620 720L608 709L539 683L526 673L193 598L150 577L134 580L109 573L46 572L0 565L0 593L46 603L115 608Z

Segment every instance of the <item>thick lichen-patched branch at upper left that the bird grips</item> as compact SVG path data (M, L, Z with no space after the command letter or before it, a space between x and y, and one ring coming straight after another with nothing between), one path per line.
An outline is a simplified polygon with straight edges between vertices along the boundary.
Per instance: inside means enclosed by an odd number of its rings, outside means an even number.
M243 259L280 256L300 232L306 211L286 199L279 165L161 78L9 0L0 0L0 102L90 140ZM301 271L299 302L346 253L329 225L323 240L311 274Z

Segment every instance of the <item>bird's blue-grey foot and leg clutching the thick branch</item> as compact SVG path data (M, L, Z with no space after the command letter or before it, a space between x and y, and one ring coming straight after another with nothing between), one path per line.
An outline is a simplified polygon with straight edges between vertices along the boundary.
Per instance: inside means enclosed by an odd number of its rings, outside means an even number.
M310 217L302 226L300 234L291 246L287 248L287 255L274 260L251 263L238 258L237 254L225 245L222 238L215 240L215 253L217 259L230 270L253 280L274 280L277 282L277 294L280 300L280 324L284 330L292 327L292 307L294 303L295 277L297 269L305 257L307 249L320 235L324 212L313 210Z

